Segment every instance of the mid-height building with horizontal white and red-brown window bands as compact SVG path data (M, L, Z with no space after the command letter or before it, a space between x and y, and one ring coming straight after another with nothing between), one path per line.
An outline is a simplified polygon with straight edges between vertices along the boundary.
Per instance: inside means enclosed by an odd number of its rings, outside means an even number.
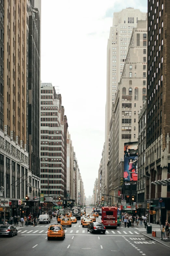
M41 192L66 199L67 118L61 94L51 83L41 84ZM57 198L56 198L57 199Z

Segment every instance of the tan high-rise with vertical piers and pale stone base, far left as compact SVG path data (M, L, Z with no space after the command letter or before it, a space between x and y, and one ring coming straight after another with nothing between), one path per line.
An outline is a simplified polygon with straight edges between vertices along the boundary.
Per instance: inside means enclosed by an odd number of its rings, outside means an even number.
M5 187L14 215L23 209L24 205L18 208L18 200L29 192L28 183L32 185L28 165L27 1L1 0L0 10L0 186Z

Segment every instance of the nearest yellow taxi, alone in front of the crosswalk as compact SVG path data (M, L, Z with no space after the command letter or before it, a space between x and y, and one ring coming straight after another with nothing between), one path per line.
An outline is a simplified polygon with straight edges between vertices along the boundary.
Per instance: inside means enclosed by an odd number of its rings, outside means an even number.
M48 228L47 232L47 239L50 240L51 238L61 238L64 240L65 238L65 228L61 225L53 224Z

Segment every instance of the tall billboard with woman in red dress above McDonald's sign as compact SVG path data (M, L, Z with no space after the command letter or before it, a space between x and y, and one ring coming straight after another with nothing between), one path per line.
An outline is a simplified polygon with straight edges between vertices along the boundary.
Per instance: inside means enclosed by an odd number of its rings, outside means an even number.
M137 181L138 142L124 143L124 180ZM129 173L133 172L133 173Z

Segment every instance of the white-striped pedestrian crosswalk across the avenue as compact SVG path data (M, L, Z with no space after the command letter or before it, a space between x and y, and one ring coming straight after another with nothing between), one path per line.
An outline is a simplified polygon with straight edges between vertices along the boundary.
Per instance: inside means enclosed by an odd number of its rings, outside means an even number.
M48 227L48 226L45 226L45 227ZM44 230L35 230L35 229L33 229L33 230L24 230L24 229L20 229L20 230L18 230L18 233L20 232L20 234L24 234L24 235L26 235L26 234L36 234L36 235L38 235L38 234L40 234L40 235L42 235L42 234L46 234L47 232L48 232L48 230L46 230L46 229L44 229ZM69 229L66 229L65 230L65 233L67 233L67 234L84 234L84 233L86 233L87 234L87 229L84 229L84 230L82 230L82 229L79 229L79 230L70 230L70 228ZM90 234L90 233L89 233ZM134 231L134 230L132 230L132 231L129 231L129 230L126 230L126 231L124 231L124 230L121 230L121 231L119 231L119 230L106 230L106 234L108 235L108 234L110 234L110 235L139 235L140 233L139 232L137 232L137 231Z

